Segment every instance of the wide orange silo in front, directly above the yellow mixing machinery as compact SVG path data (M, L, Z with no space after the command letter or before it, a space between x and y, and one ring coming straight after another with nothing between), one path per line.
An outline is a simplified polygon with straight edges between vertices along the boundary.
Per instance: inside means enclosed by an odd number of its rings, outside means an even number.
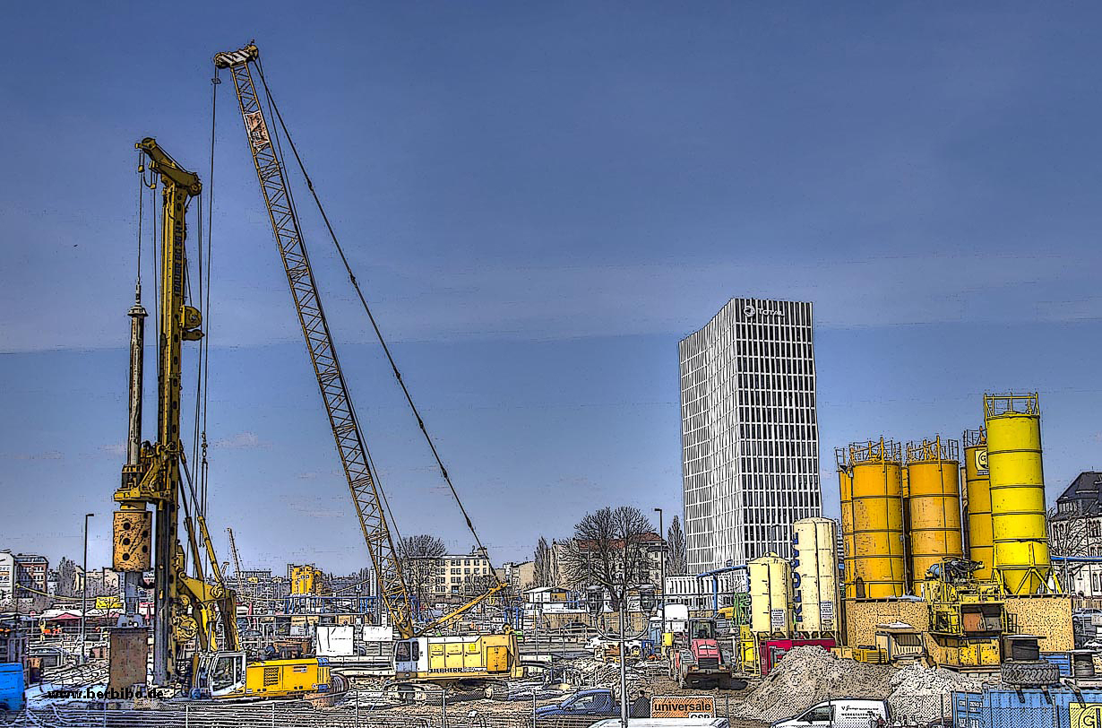
M926 570L942 558L963 556L960 459L955 440L922 440L907 446L910 514L908 549L911 593L920 593Z

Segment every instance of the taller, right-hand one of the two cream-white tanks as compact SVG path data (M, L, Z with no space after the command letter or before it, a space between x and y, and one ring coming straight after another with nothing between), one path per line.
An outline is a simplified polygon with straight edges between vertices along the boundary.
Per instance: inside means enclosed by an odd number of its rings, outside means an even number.
M834 632L838 613L838 524L800 518L792 525L792 622L799 632Z

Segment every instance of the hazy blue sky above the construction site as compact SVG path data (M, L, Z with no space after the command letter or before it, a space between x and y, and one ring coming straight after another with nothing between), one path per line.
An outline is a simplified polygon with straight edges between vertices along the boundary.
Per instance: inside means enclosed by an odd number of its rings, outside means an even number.
M115 8L0 29L0 547L77 555L93 511L109 558L133 142L209 181L209 60L252 38L497 561L606 504L680 511L677 341L736 296L815 302L829 514L834 447L959 437L984 390L1041 393L1050 497L1102 467L1089 3ZM366 555L229 84L218 104L212 527L247 565L348 571ZM399 525L465 549L300 208Z

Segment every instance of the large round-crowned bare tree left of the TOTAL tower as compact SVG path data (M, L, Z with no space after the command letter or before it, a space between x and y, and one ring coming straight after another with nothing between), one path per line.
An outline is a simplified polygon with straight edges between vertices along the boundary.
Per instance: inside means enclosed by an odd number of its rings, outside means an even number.
M647 516L631 505L586 514L574 526L574 537L563 553L570 586L604 587L612 608L619 609L628 589L649 574L646 544L653 533Z

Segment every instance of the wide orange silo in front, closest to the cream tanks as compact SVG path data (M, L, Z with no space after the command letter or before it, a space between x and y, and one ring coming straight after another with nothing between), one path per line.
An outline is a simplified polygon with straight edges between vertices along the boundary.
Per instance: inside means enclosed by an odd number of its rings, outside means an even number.
M883 438L850 446L853 596L858 599L904 595L901 456L899 443Z

